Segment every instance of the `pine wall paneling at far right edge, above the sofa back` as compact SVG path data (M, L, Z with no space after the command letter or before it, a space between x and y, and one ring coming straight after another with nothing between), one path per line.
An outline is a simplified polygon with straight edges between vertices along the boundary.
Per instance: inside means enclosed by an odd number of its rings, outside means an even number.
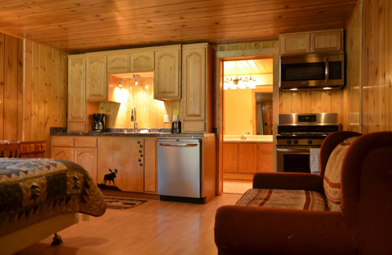
M392 0L362 4L362 132L391 131Z

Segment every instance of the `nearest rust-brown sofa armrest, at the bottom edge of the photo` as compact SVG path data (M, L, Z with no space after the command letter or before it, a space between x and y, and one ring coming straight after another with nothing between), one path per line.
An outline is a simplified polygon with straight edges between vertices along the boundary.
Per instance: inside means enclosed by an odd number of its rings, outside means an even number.
M224 205L215 218L220 254L351 255L340 212Z

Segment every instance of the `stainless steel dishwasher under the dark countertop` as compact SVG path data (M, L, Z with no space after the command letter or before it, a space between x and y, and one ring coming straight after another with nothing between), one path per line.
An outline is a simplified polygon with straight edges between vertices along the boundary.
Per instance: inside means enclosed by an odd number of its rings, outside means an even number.
M158 139L158 195L163 201L203 203L201 139Z

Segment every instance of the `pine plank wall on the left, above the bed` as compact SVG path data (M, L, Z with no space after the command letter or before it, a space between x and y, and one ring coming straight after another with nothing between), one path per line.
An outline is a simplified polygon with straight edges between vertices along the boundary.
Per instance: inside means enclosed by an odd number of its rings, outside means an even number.
M0 140L47 140L67 124L67 53L0 33ZM24 79L25 77L25 79Z

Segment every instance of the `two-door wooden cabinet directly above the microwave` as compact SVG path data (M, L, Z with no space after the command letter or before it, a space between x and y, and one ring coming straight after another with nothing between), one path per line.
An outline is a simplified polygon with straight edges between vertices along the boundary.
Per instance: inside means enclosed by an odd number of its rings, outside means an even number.
M343 51L343 29L279 35L280 54Z

